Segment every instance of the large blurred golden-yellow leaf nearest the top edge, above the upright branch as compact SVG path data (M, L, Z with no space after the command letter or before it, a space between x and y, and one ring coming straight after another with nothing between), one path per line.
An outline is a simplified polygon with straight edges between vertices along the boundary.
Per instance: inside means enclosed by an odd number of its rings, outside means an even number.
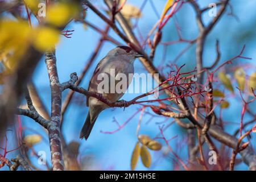
M74 18L78 12L79 9L73 4L55 3L47 10L46 22L61 27L68 23L71 18Z

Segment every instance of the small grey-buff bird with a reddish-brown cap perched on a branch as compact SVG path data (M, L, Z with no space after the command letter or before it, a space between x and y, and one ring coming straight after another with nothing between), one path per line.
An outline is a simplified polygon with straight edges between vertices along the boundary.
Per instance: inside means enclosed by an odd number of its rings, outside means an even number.
M134 73L134 60L137 57L143 57L143 55L140 55L132 48L127 46L118 46L109 51L108 54L97 64L93 76L92 78L90 78L88 90L98 92L98 84L101 82L101 80L98 80L98 76L101 73L105 73L106 75L111 76L110 70L113 69L115 71L115 76L118 73L123 73L128 78L129 73ZM130 82L131 79L127 79L127 88ZM116 83L117 81L115 80L115 84ZM110 86L112 86L110 84L110 81L108 86L110 90L113 90L113 88L110 88ZM123 94L123 92L116 92L114 88L114 93L102 93L102 96L108 98L110 102L116 102L123 96ZM88 139L98 115L101 113L102 110L109 107L104 102L101 102L100 100L94 97L87 97L86 105L89 106L89 113L87 114L84 126L82 126L82 130L80 132L80 138L85 138L85 140Z

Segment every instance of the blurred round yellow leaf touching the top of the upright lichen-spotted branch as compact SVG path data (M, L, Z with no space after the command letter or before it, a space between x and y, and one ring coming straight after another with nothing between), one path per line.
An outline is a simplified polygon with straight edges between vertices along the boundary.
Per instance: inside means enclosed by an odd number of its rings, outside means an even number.
M45 52L59 42L59 32L53 28L39 27L35 32L34 46L39 51Z

